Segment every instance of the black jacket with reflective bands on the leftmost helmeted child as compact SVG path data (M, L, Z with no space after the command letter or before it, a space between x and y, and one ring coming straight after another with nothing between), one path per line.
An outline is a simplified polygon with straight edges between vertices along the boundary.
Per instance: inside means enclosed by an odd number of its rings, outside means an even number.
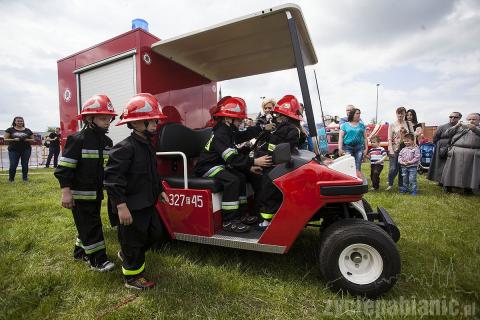
M111 147L112 140L93 128L67 137L54 174L61 188L70 187L75 201L103 199L103 167Z

